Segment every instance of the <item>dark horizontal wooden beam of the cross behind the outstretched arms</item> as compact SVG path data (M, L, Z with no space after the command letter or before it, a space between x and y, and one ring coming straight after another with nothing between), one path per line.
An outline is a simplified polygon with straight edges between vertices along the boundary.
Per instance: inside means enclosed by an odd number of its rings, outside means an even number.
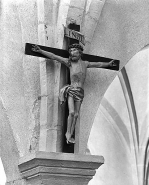
M26 43L25 45L25 54L26 55L31 55L31 56L36 56L36 57L43 57L43 58L48 58L45 57L44 55L34 52L32 50L34 44L31 43ZM67 50L63 50L63 49L57 49L57 48L51 48L51 47L47 47L47 46L42 46L42 45L38 45L42 50L48 51L48 52L52 52L55 55L64 57L64 58L68 58L69 57L69 53ZM100 57L100 56L95 56L95 55L89 55L89 54L85 54L83 53L83 56L81 57L82 60L86 60L89 62L110 62L111 58L105 58L105 57ZM115 64L116 66L112 66L112 67L105 67L106 69L110 69L110 70L119 70L119 60L115 60Z

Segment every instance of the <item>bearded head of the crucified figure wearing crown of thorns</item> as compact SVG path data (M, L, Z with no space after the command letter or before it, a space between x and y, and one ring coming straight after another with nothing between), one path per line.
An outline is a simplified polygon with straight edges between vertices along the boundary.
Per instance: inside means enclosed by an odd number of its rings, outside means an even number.
M83 53L83 47L80 44L72 44L68 48L69 56L72 61L78 61Z

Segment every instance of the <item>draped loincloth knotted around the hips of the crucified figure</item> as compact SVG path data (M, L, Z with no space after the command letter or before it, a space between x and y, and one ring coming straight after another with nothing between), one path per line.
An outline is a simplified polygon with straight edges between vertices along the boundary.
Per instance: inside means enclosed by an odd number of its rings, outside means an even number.
M71 85L66 85L60 90L59 99L60 104L63 104L67 97L71 96L75 101L83 101L84 98L84 90L81 87L73 87Z

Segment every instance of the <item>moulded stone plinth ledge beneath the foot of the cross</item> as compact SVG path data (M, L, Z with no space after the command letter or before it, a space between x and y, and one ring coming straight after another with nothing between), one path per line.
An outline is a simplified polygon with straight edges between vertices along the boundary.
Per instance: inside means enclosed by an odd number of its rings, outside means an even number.
M102 156L37 152L20 159L22 178L29 185L87 185Z

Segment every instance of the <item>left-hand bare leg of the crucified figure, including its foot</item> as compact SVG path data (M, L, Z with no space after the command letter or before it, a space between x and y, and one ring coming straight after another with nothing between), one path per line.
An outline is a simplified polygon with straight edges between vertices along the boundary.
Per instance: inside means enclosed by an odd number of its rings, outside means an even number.
M68 96L68 109L69 109L69 115L67 119L67 132L65 136L67 141L69 142L71 138L71 127L74 119L74 100L71 96Z

